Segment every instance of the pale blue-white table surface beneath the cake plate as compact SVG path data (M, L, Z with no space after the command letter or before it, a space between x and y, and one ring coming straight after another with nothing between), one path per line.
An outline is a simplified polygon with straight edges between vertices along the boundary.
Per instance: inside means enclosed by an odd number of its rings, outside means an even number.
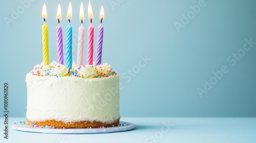
M9 126L9 139L4 139L0 119L0 142L256 142L256 117L121 117L135 129L103 134L30 133ZM25 117L9 118L9 124L20 121Z

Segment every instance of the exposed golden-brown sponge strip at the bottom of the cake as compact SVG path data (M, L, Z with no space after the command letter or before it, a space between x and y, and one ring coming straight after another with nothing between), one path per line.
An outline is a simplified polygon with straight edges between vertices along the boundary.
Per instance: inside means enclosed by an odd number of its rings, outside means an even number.
M27 118L27 117L26 117ZM37 126L54 126L54 128L98 128L98 127L113 127L119 125L119 120L109 122L109 123L103 123L99 121L74 121L74 122L63 122L63 121L56 121L56 120L45 120L45 121L29 121L27 118L27 123L30 125L30 123L37 125Z

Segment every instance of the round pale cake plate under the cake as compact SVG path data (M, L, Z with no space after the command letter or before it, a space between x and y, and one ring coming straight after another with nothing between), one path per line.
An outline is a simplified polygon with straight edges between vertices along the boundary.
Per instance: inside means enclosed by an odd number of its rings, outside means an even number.
M109 128L83 128L83 129L44 129L44 128L31 128L25 124L13 124L12 129L24 132L34 132L34 133L49 133L49 134L95 134L95 133L112 133L112 132L122 132L128 131L135 128L135 125L128 122L120 121L119 126L109 127Z

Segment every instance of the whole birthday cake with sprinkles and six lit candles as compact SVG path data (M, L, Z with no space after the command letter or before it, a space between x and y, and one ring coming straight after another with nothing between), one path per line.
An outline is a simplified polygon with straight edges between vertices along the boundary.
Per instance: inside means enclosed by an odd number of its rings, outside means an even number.
M103 26L103 6L98 27L96 65L93 63L94 27L89 1L88 55L83 61L84 28L82 27L83 6L80 6L81 26L78 31L77 65L72 64L72 18L71 3L67 14L66 63L63 65L62 28L60 27L60 4L57 9L58 27L57 59L49 64L48 26L46 25L46 5L42 8L42 54L43 62L34 66L26 75L27 113L26 124L38 128L102 128L119 125L119 75L111 65L101 63Z

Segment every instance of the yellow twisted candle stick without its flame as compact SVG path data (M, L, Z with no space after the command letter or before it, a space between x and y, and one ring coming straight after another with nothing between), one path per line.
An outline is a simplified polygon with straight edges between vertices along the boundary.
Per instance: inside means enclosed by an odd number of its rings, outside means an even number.
M42 25L42 59L45 64L49 64L48 26L45 22Z

